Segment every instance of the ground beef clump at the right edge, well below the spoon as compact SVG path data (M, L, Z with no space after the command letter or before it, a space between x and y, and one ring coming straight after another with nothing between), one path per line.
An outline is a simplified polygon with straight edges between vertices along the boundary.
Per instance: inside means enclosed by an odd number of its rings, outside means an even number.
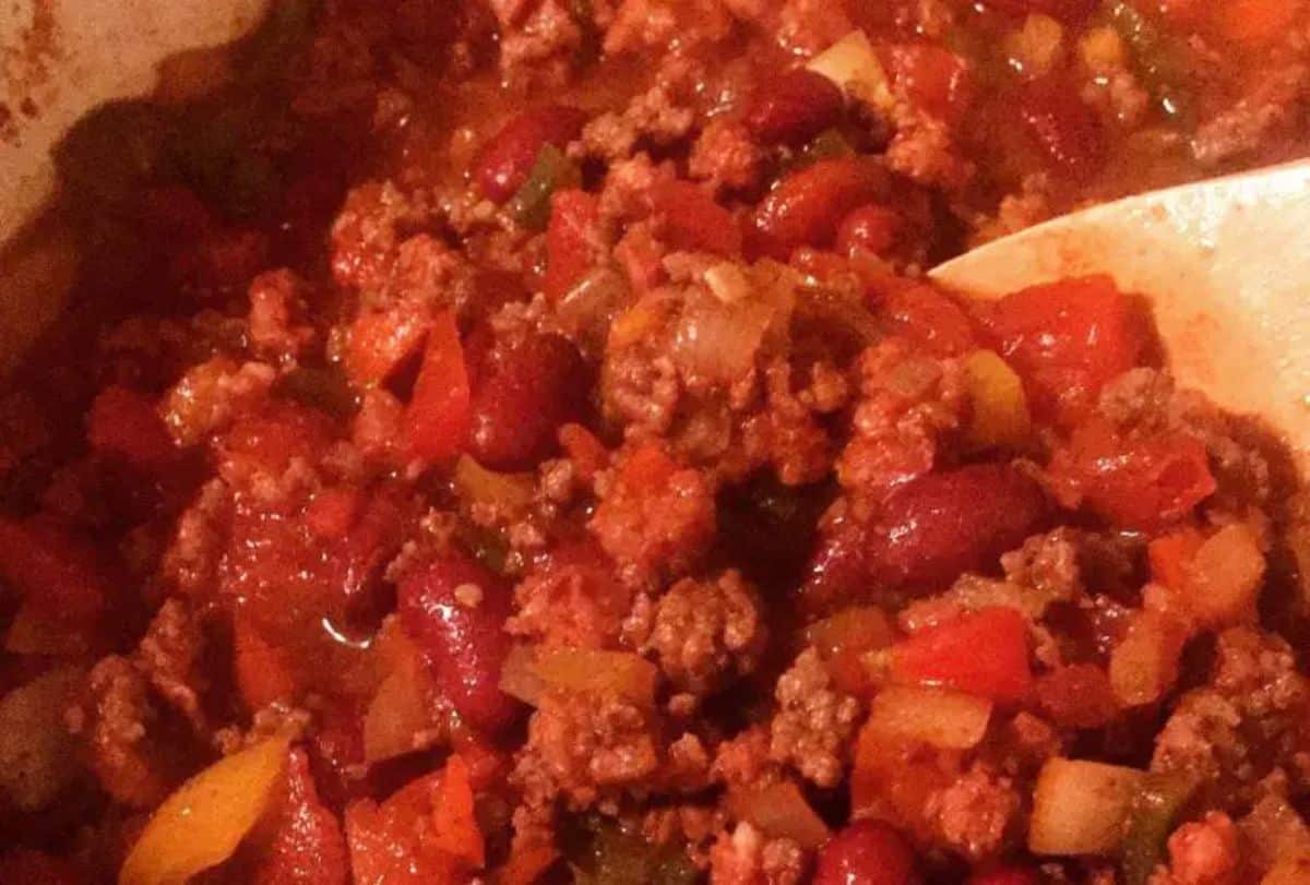
M1310 685L1286 641L1254 627L1226 630L1210 681L1183 695L1161 729L1151 770L1201 778L1218 808L1250 804L1271 774L1300 788L1310 771L1307 704Z

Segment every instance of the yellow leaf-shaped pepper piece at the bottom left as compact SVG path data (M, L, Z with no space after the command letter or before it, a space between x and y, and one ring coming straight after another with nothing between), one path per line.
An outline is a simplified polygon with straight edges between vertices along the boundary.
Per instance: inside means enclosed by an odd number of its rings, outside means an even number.
M118 873L118 885L182 885L236 851L269 806L287 763L269 738L220 759L156 809Z

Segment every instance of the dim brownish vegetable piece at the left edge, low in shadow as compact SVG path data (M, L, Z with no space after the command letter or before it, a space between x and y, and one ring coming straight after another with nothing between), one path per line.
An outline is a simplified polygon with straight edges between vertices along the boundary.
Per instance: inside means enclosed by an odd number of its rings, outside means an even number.
M79 776L64 710L84 673L59 668L0 698L0 796L25 812L52 803Z

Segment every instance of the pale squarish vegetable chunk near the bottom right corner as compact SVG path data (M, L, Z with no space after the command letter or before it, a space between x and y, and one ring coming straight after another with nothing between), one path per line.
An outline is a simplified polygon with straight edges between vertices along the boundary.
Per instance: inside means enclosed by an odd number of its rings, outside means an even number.
M1028 850L1108 855L1119 850L1145 774L1100 762L1047 761L1032 795Z

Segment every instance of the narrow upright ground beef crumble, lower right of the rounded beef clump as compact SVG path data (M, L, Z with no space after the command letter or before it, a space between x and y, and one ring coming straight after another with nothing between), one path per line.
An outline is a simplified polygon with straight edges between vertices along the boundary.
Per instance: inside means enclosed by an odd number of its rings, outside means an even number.
M859 702L840 693L814 648L778 677L778 712L769 731L769 755L820 787L836 787L850 758Z

